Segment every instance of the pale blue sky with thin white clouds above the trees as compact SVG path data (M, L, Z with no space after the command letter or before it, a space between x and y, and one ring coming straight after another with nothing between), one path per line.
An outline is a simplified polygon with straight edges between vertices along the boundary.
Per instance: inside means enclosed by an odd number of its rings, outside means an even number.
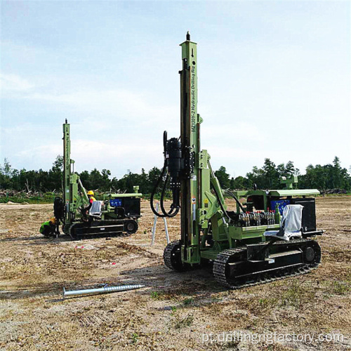
M265 157L351 165L349 1L1 1L1 163L161 167L198 43L201 147L244 176Z

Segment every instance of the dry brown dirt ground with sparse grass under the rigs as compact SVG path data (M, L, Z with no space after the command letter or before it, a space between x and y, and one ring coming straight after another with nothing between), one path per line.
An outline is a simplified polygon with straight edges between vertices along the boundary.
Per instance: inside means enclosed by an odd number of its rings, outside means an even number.
M350 205L351 197L317 199L317 227L326 230L317 270L228 291L210 271L164 266L164 225L159 219L151 246L147 201L131 237L84 241L39 234L52 205L1 204L0 349L350 349ZM179 216L168 230L171 240L179 238ZM101 284L146 287L62 298L63 287Z

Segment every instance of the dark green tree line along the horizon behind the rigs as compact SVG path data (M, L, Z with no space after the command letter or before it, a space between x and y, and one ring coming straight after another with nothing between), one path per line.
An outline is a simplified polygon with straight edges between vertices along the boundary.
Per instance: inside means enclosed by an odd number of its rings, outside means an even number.
M62 165L61 156L56 157L53 166L48 171L26 171L24 168L17 170L11 167L8 159L0 165L0 189L25 190L27 192L61 192L62 191ZM161 169L154 167L150 171L142 168L141 173L128 173L122 178L111 178L108 169L94 168L93 171L82 171L79 173L81 182L88 190L100 190L100 192L133 192L133 186L139 185L139 191L150 194L161 174ZM298 168L292 161L286 164L274 164L270 159L265 159L261 168L254 166L246 176L230 178L224 166L215 171L220 185L223 189L247 190L256 184L258 189L279 189L280 178L298 176L298 188L325 190L351 190L351 176L346 168L340 166L340 159L335 157L332 164L324 166L317 164L307 166L305 174L300 174Z

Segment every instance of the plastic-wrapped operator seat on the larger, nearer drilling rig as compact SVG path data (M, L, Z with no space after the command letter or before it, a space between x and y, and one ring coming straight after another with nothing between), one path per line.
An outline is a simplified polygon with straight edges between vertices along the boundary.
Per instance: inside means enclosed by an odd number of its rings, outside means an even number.
M303 218L302 205L287 205L284 207L282 223L279 230L264 232L265 237L274 237L289 241L291 237L302 237L301 225Z

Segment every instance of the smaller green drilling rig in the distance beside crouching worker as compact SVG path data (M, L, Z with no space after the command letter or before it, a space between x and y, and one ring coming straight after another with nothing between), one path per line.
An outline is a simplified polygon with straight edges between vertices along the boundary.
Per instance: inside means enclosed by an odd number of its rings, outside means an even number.
M126 236L138 230L140 218L139 187L133 194L103 194L102 201L93 201L79 175L74 173L74 161L70 158L71 140L67 119L63 124L63 199L56 197L53 205L56 225L72 239L92 237Z

